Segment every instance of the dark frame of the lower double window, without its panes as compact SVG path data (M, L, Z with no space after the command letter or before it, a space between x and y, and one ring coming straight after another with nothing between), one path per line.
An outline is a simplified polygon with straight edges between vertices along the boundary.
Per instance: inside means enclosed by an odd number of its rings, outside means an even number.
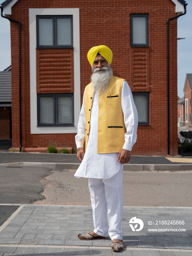
M40 122L40 97L41 96L53 96L53 112L54 112L54 124L46 124ZM58 124L58 97L60 96L71 96L71 108L72 108L72 122ZM56 126L74 126L74 94L73 93L39 93L37 94L37 126L38 127L56 127Z

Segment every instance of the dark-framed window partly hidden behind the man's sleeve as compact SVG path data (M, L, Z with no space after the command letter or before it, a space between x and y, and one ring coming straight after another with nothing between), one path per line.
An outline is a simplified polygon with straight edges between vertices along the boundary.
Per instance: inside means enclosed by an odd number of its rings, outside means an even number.
M149 93L132 93L138 111L138 124L149 124Z

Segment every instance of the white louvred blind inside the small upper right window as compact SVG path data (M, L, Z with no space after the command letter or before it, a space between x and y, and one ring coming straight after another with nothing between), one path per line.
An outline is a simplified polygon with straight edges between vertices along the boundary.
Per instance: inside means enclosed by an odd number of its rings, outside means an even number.
M146 44L146 17L133 17L133 44Z

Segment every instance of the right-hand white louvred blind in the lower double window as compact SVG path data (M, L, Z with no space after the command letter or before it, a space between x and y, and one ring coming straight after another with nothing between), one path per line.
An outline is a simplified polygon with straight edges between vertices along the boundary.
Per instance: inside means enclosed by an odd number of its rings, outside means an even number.
M58 97L58 124L72 123L72 97Z

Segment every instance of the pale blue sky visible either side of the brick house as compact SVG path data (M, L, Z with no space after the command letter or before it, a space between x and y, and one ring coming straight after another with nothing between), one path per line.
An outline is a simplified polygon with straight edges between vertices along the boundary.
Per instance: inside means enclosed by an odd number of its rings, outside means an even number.
M2 2L3 0L0 3ZM177 19L177 37L185 38L177 40L177 95L180 98L184 97L186 74L192 73L192 0L187 0L186 3L187 13ZM0 71L10 65L10 21L0 16Z

